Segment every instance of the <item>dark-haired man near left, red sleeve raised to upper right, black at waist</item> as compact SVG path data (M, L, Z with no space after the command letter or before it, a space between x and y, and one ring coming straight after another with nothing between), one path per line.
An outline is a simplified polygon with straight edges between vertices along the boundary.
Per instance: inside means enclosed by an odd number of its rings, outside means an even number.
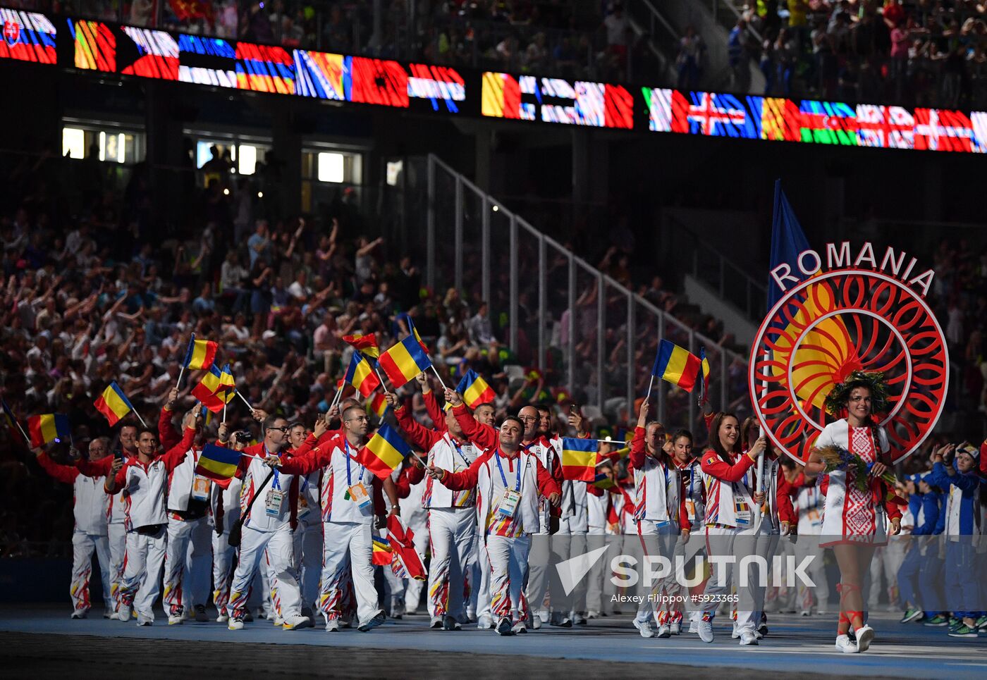
M198 420L198 417L190 418L190 426L179 443L161 456L155 455L158 447L155 433L142 430L137 440L137 456L125 465L114 460L112 476L107 477L105 489L108 493L122 491L128 497L126 555L120 584L121 621L129 618L132 605L138 626L154 623L153 606L161 587L161 569L168 542L165 511L168 476L185 460L195 438Z

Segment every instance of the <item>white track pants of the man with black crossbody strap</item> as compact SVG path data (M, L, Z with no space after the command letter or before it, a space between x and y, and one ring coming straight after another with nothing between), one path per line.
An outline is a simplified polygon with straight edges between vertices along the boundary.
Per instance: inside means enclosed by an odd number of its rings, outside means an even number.
M240 561L230 585L227 610L231 617L243 613L246 608L250 585L258 567L266 569L268 566L277 579L276 589L271 583L271 598L277 611L284 618L301 614L301 594L298 590L298 573L295 570L291 527L285 525L274 531L258 531L245 526L240 542Z

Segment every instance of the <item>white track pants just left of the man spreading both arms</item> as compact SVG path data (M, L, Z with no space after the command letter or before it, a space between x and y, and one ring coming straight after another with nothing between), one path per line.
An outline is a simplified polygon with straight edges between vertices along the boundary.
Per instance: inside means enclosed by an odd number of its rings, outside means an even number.
M466 568L477 529L475 507L428 510L428 600L432 616L466 621Z

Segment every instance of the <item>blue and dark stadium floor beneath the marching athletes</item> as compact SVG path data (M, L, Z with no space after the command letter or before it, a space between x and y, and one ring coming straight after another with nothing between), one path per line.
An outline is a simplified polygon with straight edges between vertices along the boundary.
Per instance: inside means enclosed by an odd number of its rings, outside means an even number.
M955 640L944 629L901 625L892 614L874 614L877 639L863 654L833 649L835 617L803 619L772 615L770 637L757 647L739 647L729 629L717 640L694 636L641 638L630 617L608 617L578 629L543 627L526 636L499 638L472 627L459 633L424 629L426 619L389 621L369 634L321 628L285 632L265 621L240 633L225 625L186 623L169 627L160 619L138 628L104 619L72 621L64 608L0 606L0 668L5 677L175 678L318 674L341 678L457 678L471 680L532 673L549 677L653 678L655 674L730 680L820 673L894 678L983 678L987 638ZM57 638L55 638L57 636ZM270 654L272 645L279 645ZM344 654L326 654L331 649ZM468 664L468 665L467 665Z

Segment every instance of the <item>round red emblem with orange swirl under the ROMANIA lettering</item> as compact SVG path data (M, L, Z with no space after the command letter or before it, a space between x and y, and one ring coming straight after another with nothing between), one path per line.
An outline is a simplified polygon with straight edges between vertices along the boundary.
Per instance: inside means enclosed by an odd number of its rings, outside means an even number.
M881 372L895 463L943 413L949 350L936 316L904 283L876 271L840 269L799 283L771 310L751 347L750 393L772 443L800 462L833 416L824 400L855 370Z

